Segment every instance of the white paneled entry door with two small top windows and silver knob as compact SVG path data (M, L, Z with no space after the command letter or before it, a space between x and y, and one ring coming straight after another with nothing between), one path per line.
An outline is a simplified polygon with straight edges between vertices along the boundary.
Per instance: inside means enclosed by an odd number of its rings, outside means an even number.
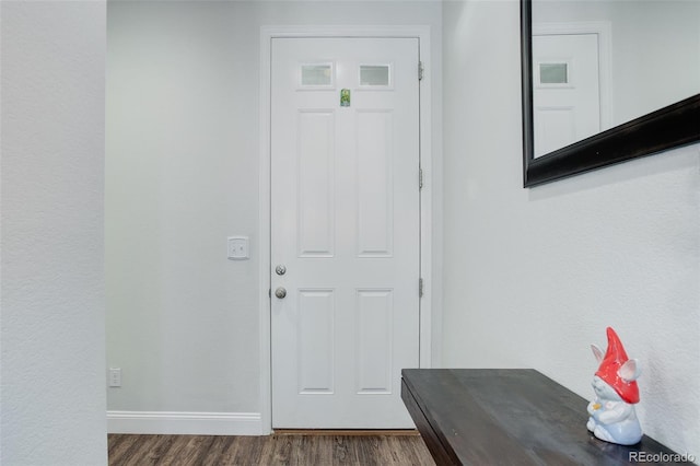
M271 47L272 427L412 427L418 39Z

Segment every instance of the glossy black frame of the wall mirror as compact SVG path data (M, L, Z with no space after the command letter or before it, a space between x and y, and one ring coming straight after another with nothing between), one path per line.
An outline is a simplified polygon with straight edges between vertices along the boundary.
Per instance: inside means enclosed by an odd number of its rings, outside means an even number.
M521 0L524 187L555 182L700 140L700 94L535 159L533 5Z

